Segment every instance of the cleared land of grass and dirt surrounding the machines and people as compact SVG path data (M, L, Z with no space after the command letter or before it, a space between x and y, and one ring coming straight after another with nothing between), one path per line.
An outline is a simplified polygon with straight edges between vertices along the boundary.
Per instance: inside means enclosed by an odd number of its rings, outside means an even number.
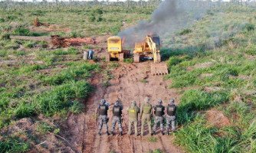
M167 13L164 2L173 5ZM0 2L0 152L256 152L255 7ZM133 54L106 61L108 37L126 36L133 53L132 41L149 31L159 33L169 74L152 75L153 61L135 63ZM176 132L127 135L125 115L122 136L97 135L100 99L126 110L146 96L153 105L176 100Z

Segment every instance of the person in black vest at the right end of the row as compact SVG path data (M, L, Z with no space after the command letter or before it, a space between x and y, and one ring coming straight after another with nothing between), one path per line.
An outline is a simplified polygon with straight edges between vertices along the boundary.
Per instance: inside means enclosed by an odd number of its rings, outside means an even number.
M166 131L167 135L169 135L170 125L172 124L172 132L175 131L176 127L176 105L174 103L174 99L170 99L167 109L166 115Z

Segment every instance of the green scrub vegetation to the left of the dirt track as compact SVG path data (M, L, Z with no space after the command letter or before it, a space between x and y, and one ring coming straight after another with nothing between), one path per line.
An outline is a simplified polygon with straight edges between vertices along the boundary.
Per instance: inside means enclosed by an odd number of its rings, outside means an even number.
M82 60L83 50L90 46L51 48L47 41L13 40L11 35L114 35L149 18L156 7L154 3L142 10L137 3L122 2L107 7L94 2L0 3L0 152L26 152L38 144L41 151L51 150L45 138L59 135L67 116L84 112L84 103L94 91L91 77L103 72L105 86L111 78L110 70L101 70L100 63ZM49 26L35 28L34 18Z

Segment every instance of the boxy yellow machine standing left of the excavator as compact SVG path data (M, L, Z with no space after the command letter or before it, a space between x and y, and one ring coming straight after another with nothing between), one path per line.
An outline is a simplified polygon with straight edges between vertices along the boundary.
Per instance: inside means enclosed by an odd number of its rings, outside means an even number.
M118 36L107 38L107 62L112 59L117 59L120 62L123 62L123 59L129 56L130 50L123 50L123 42L122 38Z

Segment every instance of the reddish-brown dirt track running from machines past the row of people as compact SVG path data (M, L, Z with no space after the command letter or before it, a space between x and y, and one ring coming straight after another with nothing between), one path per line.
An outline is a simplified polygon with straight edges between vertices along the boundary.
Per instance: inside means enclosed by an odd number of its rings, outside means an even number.
M143 103L143 99L149 96L151 103L156 104L156 99L162 99L164 104L171 97L179 99L175 90L168 89L169 80L163 80L162 76L150 75L150 63L121 63L120 67L113 70L113 79L110 86L103 87L100 76L92 80L96 87L94 95L87 100L87 111L80 116L70 116L67 119L67 129L71 131L68 136L77 150L81 152L149 152L160 149L163 152L182 152L172 143L172 136L157 134L155 139L149 140L151 136L146 132L146 136L127 135L127 115L126 108L134 99L138 103ZM97 125L95 124L94 111L100 99L106 99L111 104L119 98L124 106L124 122L122 137L118 135L107 136L105 129L103 135L97 135ZM110 121L112 113L110 112ZM109 122L109 128L111 124ZM140 127L139 127L140 129ZM147 128L146 128L147 129ZM139 130L140 133L140 130Z

